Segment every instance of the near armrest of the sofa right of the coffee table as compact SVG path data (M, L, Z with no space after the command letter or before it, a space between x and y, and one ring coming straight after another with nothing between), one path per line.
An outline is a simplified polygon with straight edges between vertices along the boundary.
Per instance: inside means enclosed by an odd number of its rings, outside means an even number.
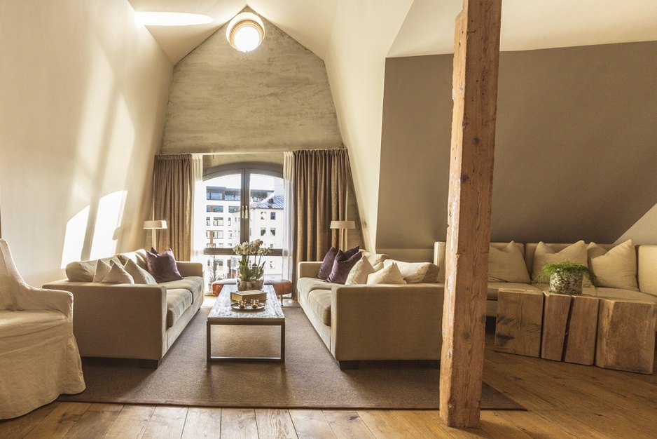
M331 295L336 360L439 360L441 285L340 285Z

